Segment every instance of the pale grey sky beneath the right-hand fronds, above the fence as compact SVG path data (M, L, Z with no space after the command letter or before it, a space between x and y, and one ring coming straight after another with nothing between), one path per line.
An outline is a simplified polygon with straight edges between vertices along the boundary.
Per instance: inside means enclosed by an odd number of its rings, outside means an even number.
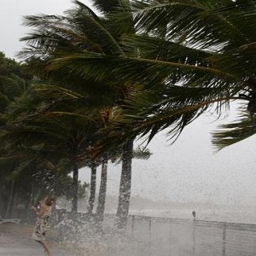
M172 146L164 133L155 137L149 144L154 153L150 160L133 161L133 194L166 201L255 204L255 137L213 154L210 132L220 121L212 121L196 120ZM109 166L108 191L113 195L118 193L120 167ZM81 176L89 180L89 172Z

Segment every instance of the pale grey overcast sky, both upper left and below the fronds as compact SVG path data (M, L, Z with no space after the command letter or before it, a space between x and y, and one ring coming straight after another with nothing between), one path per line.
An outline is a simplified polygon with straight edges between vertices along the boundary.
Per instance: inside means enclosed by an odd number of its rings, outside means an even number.
M86 3L86 1L82 1ZM88 2L87 2L88 3ZM61 14L69 0L0 0L0 51L15 57L28 31L22 15ZM234 111L231 111L234 115ZM255 137L213 154L210 132L224 120L207 116L189 125L170 146L161 134L149 148L150 160L134 160L132 194L166 201L209 201L256 205ZM108 193L118 195L121 166L109 166ZM80 177L90 181L89 170Z

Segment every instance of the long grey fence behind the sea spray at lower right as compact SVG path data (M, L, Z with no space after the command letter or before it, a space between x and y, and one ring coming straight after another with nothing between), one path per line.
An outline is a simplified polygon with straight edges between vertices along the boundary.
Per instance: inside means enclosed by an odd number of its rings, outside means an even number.
M90 221L83 213L78 218ZM103 225L111 229L114 220L113 214L106 214ZM143 245L142 255L256 255L255 224L130 215L126 235Z

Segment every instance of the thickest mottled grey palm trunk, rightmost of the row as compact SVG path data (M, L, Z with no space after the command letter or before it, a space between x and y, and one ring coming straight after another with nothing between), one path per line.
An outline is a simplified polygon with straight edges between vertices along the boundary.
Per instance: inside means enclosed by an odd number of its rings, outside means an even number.
M119 206L116 213L116 227L125 228L128 219L131 197L131 160L133 140L123 147L122 173L119 186Z

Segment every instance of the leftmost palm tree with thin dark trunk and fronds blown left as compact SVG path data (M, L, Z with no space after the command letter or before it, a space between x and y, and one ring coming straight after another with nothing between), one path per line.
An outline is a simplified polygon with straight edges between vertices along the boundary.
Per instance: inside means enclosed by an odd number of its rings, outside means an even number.
M54 114L53 112L48 113ZM56 112L55 112L56 114ZM59 112L60 114L60 112ZM9 126L2 139L13 143L16 152L41 154L49 160L66 160L66 168L73 170L73 212L78 209L79 167L86 165L84 154L94 142L96 121L77 116L49 117L39 115L20 125ZM20 148L20 146L22 148Z

